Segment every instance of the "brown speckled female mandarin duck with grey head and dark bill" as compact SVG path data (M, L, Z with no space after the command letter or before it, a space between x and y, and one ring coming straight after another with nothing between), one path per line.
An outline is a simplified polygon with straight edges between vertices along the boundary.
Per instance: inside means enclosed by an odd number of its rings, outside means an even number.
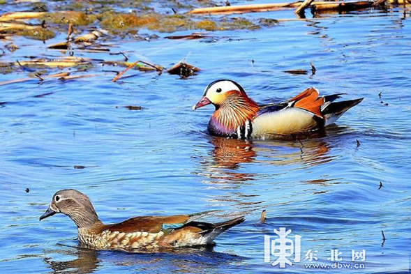
M98 250L156 252L170 248L207 245L221 232L244 222L244 217L210 224L195 222L201 215L134 217L103 224L89 197L77 190L59 190L40 220L63 213L77 225L80 243Z

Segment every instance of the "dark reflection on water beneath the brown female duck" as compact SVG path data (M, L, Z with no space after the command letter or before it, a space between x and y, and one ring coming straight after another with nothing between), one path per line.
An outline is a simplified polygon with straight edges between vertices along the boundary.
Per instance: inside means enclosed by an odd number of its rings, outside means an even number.
M43 254L53 257L61 254L63 257L75 257L69 261L61 261L52 257L45 257L43 261L50 273L94 273L103 265L115 265L117 267L133 267L138 273L152 273L175 271L184 273L208 273L213 266L232 264L244 261L246 257L234 254L214 252L214 246L200 248L184 248L172 252L160 252L153 254L130 253L110 250L89 250L86 248L61 245L58 250L44 250Z

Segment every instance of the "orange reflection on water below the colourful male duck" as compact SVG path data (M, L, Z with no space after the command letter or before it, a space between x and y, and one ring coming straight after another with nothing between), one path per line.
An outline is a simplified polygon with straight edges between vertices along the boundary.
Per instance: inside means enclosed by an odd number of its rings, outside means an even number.
M311 135L299 135L271 141L248 141L242 139L227 139L224 137L209 137L213 144L211 159L203 162L207 173L216 172L212 178L234 177L234 179L251 179L253 174L234 173L241 164L251 162L269 162L272 165L319 165L331 159L330 145L327 136L333 130L318 130ZM225 171L221 174L218 170Z

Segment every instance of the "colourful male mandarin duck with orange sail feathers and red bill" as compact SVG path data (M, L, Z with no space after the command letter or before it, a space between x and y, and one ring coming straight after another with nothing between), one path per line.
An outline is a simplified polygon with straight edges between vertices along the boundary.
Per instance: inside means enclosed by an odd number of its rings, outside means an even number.
M317 130L334 123L364 98L333 102L341 94L319 97L308 88L278 104L257 105L234 81L222 79L209 84L193 109L213 104L208 130L211 135L238 139L264 139Z

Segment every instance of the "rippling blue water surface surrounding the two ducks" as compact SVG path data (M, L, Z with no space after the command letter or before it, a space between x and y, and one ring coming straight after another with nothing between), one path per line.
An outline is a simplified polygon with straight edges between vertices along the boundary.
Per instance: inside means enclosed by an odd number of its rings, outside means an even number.
M160 38L150 42L111 37L112 51L128 52L130 61L170 68L189 54L186 61L202 71L181 79L130 70L126 76L135 76L112 83L115 75L103 70L122 68L95 65L85 73L100 73L97 77L1 86L1 272L317 273L304 265L311 263L305 260L308 250L317 251L313 263L328 266L331 250L342 252L344 263L354 263L352 250L366 250L359 262L364 270L324 273L408 273L409 9L405 15L403 8L321 15L270 29L213 32L202 40L163 38L168 33L157 33ZM291 10L242 16L294 18ZM67 53L46 47L65 36L45 44L13 38L20 49L0 61L63 56ZM309 70L310 62L315 75L283 72ZM27 72L17 71L0 75L0 82L23 77ZM191 110L204 87L220 78L239 82L257 102L285 100L308 86L364 101L325 136L302 144L221 139L206 132L212 107ZM38 96L45 93L50 94ZM214 248L171 254L84 250L66 216L38 221L54 192L63 188L89 195L107 223L210 210L217 212L204 221L244 214L246 222L221 234ZM267 218L260 224L263 209ZM264 262L264 235L276 236L280 227L301 236L301 261L285 270L271 266L273 256Z

